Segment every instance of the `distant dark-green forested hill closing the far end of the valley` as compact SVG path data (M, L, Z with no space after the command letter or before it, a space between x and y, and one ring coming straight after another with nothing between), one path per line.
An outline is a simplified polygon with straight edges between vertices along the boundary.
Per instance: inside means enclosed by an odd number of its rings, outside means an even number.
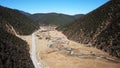
M45 25L64 25L73 22L76 18L81 17L81 15L70 16L58 13L47 13L47 14L33 14L31 19L35 22Z

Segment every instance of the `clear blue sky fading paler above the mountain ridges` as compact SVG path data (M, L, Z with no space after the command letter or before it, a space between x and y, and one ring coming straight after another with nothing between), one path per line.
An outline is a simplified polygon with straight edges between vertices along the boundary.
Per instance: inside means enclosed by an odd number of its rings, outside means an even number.
M0 5L29 13L86 14L109 0L0 0Z

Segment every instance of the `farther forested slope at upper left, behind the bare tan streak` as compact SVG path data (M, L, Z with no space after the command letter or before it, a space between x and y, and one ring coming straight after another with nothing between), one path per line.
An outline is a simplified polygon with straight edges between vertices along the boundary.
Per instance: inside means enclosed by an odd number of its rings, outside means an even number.
M17 10L0 6L0 18L8 22L18 34L31 34L38 28L38 24L34 23L27 16L21 14Z

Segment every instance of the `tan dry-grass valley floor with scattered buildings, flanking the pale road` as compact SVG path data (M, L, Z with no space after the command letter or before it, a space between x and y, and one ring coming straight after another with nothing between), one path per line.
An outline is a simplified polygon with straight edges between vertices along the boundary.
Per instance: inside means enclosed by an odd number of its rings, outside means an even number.
M30 44L31 50L31 35L21 38ZM42 68L120 68L119 61L107 53L68 40L57 30L37 32L35 43Z

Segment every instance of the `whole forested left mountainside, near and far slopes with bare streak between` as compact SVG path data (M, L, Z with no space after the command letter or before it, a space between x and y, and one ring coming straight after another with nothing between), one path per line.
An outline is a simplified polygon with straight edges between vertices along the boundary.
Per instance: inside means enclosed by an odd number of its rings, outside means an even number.
M19 11L0 6L0 68L34 68L29 45L17 34L32 34L38 28Z

